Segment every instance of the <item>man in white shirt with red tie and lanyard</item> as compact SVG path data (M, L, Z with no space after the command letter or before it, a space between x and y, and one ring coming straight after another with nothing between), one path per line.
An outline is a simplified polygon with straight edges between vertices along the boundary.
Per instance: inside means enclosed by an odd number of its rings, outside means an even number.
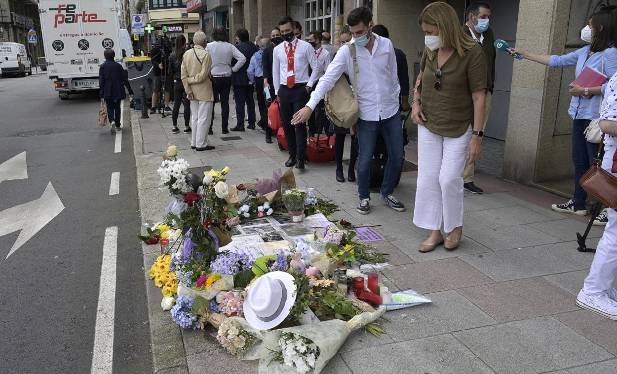
M278 21L284 42L275 47L272 55L272 83L281 105L281 119L289 146L289 160L285 166L304 169L307 150L306 121L291 124L291 118L309 101L311 87L320 75L320 67L313 47L294 35L294 20L283 17ZM312 73L309 75L309 67ZM322 95L323 96L323 95ZM295 130L295 131L294 131Z

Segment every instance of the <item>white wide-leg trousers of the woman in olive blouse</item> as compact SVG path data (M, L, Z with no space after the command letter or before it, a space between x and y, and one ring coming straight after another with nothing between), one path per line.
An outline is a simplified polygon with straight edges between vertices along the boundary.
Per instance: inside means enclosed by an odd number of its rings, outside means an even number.
M463 168L471 126L463 136L444 137L418 125L418 186L413 223L445 232L463 226Z

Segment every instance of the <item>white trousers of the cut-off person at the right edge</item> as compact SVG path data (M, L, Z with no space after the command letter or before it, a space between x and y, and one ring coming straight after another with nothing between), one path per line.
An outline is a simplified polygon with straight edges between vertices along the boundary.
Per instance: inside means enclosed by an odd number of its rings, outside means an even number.
M615 146L605 146L604 150L602 168L610 172ZM617 275L617 211L608 209L608 224L595 250L594 262L591 264L589 275L585 278L582 291L590 296L605 294L612 287L615 275Z

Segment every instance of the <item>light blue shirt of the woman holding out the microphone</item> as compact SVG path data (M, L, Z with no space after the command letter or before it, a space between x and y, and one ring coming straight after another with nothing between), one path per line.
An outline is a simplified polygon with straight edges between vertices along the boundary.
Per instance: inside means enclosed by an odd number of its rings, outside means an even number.
M549 66L552 68L565 68L576 65L575 76L579 76L583 68L589 66L598 71L602 71L608 78L613 76L617 71L617 48L611 47L602 52L595 52L587 59L590 49L591 46L585 46L566 55L553 55L550 57ZM602 67L602 56L604 56L604 67ZM604 94L606 87L607 82L602 84L602 94ZM600 98L600 95L593 95L590 99L584 96L573 96L568 114L574 120L593 120L594 118L598 118Z

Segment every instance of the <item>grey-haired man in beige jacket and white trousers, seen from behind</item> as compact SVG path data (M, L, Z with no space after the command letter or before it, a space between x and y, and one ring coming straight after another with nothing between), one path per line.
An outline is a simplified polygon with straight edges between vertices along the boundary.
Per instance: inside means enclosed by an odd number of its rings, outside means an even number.
M205 34L195 33L195 46L184 53L182 59L182 84L186 97L191 100L191 148L202 151L212 150L214 147L208 142L208 127L214 95L212 93L212 57L205 51Z

